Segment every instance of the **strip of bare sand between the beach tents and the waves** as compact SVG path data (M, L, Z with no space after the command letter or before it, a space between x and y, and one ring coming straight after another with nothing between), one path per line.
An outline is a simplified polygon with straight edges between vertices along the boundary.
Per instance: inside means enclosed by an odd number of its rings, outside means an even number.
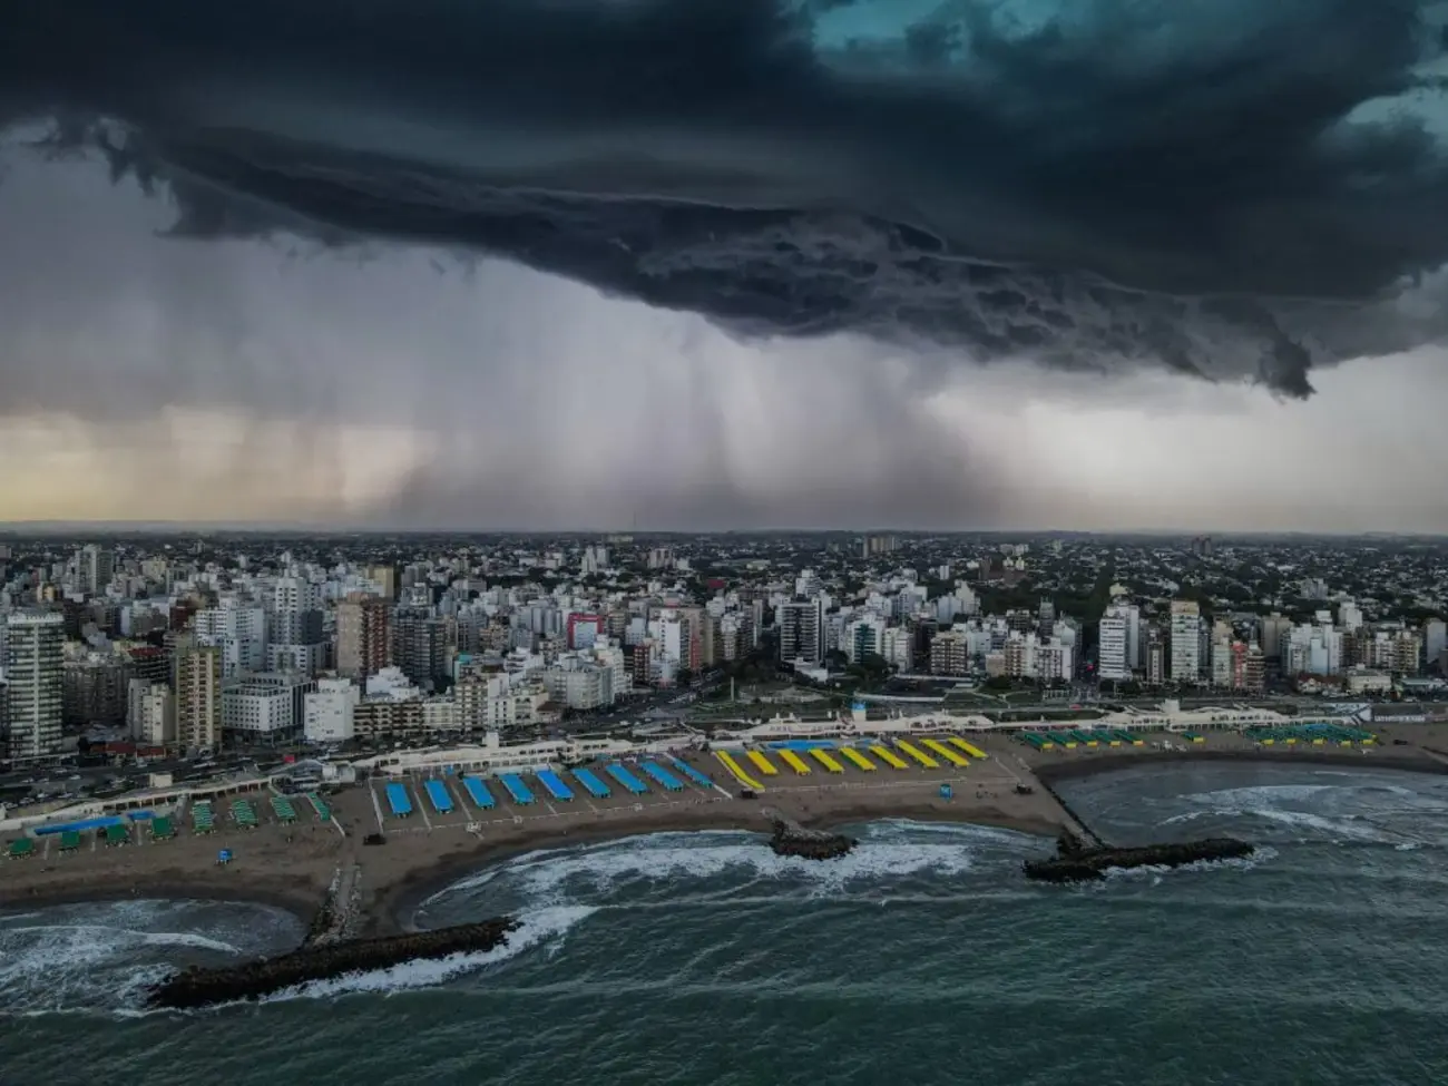
M1213 740L1225 738L1224 744ZM339 870L355 869L356 935L376 937L416 931L420 908L449 886L530 853L589 847L627 837L660 833L743 831L759 835L767 849L769 822L765 807L818 830L837 830L876 821L906 820L917 822L953 822L1014 830L1043 838L1056 838L1073 815L1057 802L1051 786L1057 782L1111 773L1132 766L1154 767L1187 763L1264 763L1338 766L1339 769L1448 773L1448 757L1412 746L1381 746L1364 754L1358 749L1273 750L1209 736L1208 747L1190 750L1108 749L1070 752L1031 752L992 743L996 762L973 769L957 783L975 783L975 798L957 794L941 799L933 780L914 778L895 786L851 788L775 788L765 802L704 799L668 807L620 802L611 809L584 809L568 815L534 818L498 818L485 824L481 837L463 833L462 825L408 827L390 834L388 843L361 847L361 835L374 825L374 796L368 786L339 796L334 804L350 827L348 835L297 834L282 837L266 830L217 838L187 838L159 850L149 846L114 853L62 860L22 860L4 863L0 870L0 909L45 908L106 901L216 901L249 902L284 909L304 927L323 906L327 889ZM1018 772L1024 770L1024 772ZM988 776L989 773L989 776ZM1008 791L1016 779L1035 783L1032 795ZM934 778L938 780L940 778ZM1034 780L1032 780L1034 779ZM992 788L999 791L980 791ZM626 802L626 801L624 801ZM594 805L589 804L589 808ZM213 849L227 844L237 849L237 860L226 869L211 863ZM67 864L74 863L74 869ZM32 866L36 864L36 866ZM58 866L56 866L58 864ZM98 866L91 866L98 864ZM12 870L16 879L6 877Z

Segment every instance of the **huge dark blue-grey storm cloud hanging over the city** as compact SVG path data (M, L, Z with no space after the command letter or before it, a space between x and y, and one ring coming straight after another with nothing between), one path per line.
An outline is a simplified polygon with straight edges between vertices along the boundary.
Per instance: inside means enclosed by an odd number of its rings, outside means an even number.
M103 140L184 236L424 240L737 334L1300 395L1445 330L1393 303L1448 261L1409 109L1441 106L1436 7L12 0L0 119Z

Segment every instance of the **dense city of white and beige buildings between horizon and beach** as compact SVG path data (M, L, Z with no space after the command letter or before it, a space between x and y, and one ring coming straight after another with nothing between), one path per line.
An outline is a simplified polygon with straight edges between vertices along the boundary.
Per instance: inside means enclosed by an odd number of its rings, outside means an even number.
M707 728L862 699L1431 701L1445 595L1444 544L1400 539L13 536L4 753Z

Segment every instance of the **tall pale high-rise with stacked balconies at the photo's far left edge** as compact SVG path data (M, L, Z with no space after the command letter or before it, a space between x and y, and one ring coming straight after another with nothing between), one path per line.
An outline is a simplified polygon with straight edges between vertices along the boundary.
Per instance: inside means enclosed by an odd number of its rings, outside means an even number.
M4 676L9 753L14 762L64 750L65 618L17 611L6 618Z

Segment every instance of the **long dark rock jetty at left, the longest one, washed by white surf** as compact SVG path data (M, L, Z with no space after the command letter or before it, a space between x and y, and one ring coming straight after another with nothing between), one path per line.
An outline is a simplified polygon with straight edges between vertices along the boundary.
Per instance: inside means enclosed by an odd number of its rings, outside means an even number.
M191 1009L279 992L311 980L387 969L403 961L492 950L518 927L513 917L387 938L304 946L291 954L219 969L193 967L151 989L152 1008Z

